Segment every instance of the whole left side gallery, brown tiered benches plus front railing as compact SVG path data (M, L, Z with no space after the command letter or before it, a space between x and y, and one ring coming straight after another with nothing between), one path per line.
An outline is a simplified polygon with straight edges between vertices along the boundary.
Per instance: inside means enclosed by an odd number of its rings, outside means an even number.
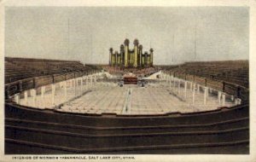
M5 99L24 90L100 72L101 67L79 61L57 61L5 57Z

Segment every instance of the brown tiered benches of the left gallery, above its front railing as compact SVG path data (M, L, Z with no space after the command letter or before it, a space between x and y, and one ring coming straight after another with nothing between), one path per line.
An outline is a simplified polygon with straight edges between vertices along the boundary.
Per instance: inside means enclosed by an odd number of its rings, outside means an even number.
M56 61L43 59L25 59L5 57L5 84L24 78L43 75L60 74L65 72L89 71L79 61Z

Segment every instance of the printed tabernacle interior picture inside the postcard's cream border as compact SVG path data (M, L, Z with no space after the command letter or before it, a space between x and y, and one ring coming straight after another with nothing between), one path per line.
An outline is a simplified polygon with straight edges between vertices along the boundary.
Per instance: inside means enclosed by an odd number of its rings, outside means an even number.
M5 154L248 154L247 7L6 7Z

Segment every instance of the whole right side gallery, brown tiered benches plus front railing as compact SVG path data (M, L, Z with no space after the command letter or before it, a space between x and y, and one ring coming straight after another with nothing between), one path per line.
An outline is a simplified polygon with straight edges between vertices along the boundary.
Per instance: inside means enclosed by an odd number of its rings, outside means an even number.
M227 94L249 100L248 61L186 62L182 65L162 66L163 72L224 91Z

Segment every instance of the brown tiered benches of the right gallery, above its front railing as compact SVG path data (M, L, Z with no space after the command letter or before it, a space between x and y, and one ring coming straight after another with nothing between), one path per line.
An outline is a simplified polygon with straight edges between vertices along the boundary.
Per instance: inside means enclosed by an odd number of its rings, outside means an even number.
M167 71L211 78L244 87L249 86L248 61L202 61L186 62L180 66L162 67Z

